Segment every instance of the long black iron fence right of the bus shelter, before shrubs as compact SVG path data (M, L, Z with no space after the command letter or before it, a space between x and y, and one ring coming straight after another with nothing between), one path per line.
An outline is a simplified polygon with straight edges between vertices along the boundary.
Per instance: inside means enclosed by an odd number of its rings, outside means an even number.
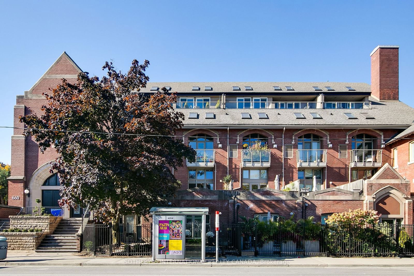
M414 255L413 225L322 225L289 230L280 225L223 224L219 231L222 256L361 256ZM208 251L207 251L208 252Z

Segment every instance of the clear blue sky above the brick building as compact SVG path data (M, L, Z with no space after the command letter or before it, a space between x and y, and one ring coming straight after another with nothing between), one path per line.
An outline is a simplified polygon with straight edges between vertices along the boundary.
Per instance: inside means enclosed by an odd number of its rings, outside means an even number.
M371 82L375 46L400 45L400 100L414 107L414 1L3 1L0 125L66 51L101 77L147 59L150 81ZM10 163L12 130L0 129Z

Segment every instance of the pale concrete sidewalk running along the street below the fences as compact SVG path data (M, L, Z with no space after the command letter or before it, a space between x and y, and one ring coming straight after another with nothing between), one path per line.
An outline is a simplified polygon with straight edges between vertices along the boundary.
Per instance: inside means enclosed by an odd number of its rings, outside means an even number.
M207 262L194 260L152 262L149 257L89 257L72 253L8 251L0 266L285 266L285 267L414 267L414 258L229 257Z

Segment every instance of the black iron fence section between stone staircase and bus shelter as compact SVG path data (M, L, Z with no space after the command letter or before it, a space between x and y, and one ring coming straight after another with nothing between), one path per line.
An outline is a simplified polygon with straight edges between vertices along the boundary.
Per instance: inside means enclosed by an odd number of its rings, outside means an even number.
M151 256L152 224L120 224L118 231L108 225L87 224L82 251L94 255Z

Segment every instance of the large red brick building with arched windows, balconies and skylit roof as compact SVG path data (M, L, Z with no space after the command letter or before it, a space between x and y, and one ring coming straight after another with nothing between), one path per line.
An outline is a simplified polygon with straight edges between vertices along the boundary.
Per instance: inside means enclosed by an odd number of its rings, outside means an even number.
M147 84L142 89L147 94L162 87L177 91L174 107L185 115L178 135L197 151L196 162L186 161L174 172L182 187L175 197L166 198L166 204L219 209L229 222L238 215L267 219L268 211L274 217L293 213L300 218L299 192L308 188L306 216L322 219L333 212L363 208L381 210L382 218L390 222L412 223L410 181L414 176L409 168L397 168L397 172L388 165L400 140L388 141L404 133L414 120L414 109L398 100L398 48L373 50L371 86L350 82ZM75 80L81 71L63 53L29 91L17 96L14 126L24 127L18 118L28 108L40 112L45 103L41 93L48 87L63 77ZM404 151L408 150L398 145L398 153ZM43 206L56 204L59 183L49 173L54 158L53 148L40 154L31 137L24 137L22 129L14 130L9 198L18 195L19 199L11 200L11 205L34 206L36 198L42 198ZM220 180L228 174L233 183L224 190ZM66 215L81 214L77 208Z

